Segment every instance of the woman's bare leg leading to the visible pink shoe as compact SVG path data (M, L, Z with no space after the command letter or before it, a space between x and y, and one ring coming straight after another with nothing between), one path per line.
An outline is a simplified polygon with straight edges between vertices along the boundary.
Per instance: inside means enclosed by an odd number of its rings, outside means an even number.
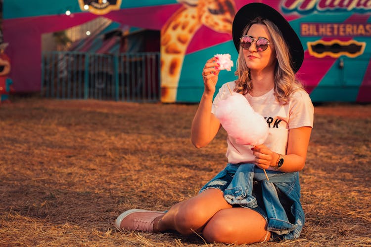
M202 231L205 224L221 209L232 208L218 189L207 189L195 197L180 202L154 222L154 231L176 230L187 235ZM192 231L193 230L193 231Z

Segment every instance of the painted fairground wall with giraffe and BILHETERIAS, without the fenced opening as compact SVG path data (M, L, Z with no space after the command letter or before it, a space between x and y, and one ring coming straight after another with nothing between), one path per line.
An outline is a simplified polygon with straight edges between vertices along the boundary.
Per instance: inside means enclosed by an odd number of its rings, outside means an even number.
M201 70L217 53L237 59L232 42L236 11L251 0L4 0L3 34L9 42L14 88L41 87L41 36L97 17L160 32L163 102L198 102ZM260 0L276 8L305 50L297 73L313 101L371 101L371 0ZM69 15L66 11L69 11ZM232 81L222 71L219 86Z

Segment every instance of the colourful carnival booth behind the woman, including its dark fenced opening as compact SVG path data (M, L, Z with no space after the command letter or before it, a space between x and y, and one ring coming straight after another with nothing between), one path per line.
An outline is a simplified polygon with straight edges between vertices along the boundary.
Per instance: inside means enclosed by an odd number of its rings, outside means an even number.
M205 61L217 53L236 61L232 20L249 2L3 0L10 78L17 92L49 97L198 102ZM299 35L305 58L297 75L313 101L371 101L370 1L259 2L281 12ZM106 23L89 30L97 18ZM67 30L78 27L84 35L74 40ZM68 47L47 50L48 34ZM234 79L233 70L219 76Z

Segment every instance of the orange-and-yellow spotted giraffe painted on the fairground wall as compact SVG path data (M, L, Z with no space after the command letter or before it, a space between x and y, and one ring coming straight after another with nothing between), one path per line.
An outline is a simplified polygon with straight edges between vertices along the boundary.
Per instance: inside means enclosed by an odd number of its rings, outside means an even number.
M175 102L185 51L193 35L205 25L232 33L233 0L178 0L178 9L161 29L161 101Z

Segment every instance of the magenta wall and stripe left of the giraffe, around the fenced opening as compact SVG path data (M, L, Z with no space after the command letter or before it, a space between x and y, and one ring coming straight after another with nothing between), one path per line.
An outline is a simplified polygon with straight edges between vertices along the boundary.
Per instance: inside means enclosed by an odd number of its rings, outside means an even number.
M104 17L129 26L160 30L180 4L140 7L111 11ZM100 15L75 13L3 21L5 53L10 57L9 77L16 92L38 92L41 88L41 36L91 21Z

